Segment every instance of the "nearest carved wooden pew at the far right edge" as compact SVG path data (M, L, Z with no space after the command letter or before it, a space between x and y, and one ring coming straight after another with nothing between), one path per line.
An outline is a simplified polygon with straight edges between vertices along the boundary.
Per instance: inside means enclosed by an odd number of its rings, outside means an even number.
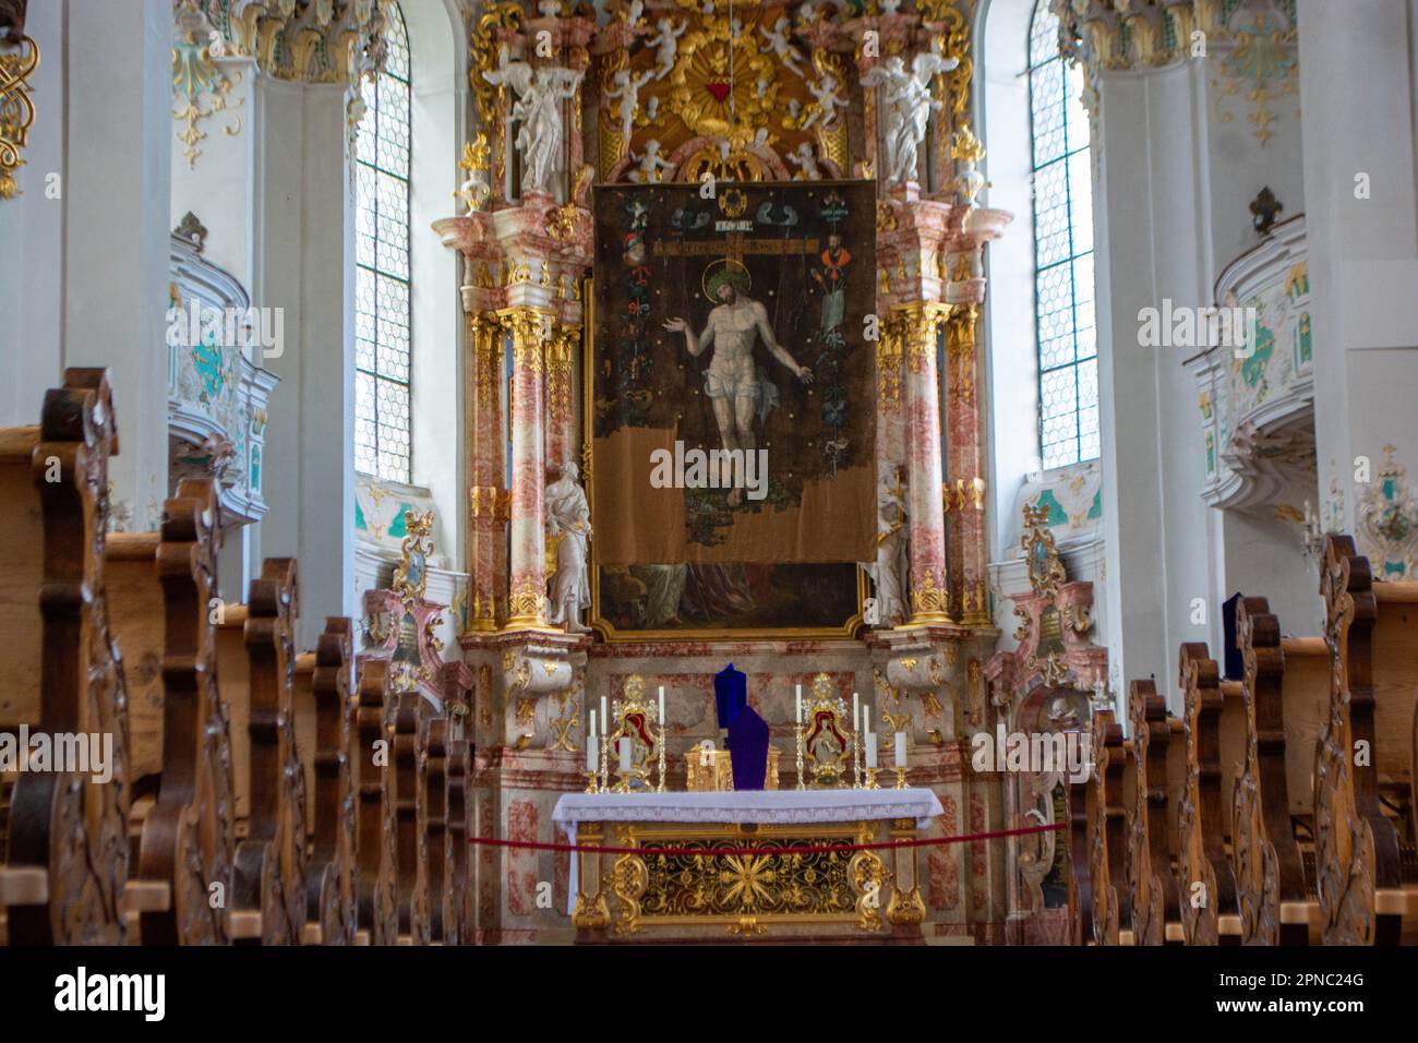
M1402 722L1412 719L1418 685L1418 585L1375 583L1354 541L1330 535L1320 595L1336 657L1314 756L1314 871L1324 942L1391 945L1414 918L1418 890L1405 868L1414 861L1404 850L1411 841L1381 799L1385 782L1412 775L1400 736L1407 734ZM1391 779L1384 779L1385 771Z

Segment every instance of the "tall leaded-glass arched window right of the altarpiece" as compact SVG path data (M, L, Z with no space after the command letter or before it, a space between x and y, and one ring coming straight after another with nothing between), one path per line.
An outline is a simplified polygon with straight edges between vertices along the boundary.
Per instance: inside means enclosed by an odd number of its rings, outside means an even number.
M1039 453L1045 468L1099 453L1093 194L1082 92L1083 71L1059 58L1059 21L1049 0L1038 0L1029 26L1029 109Z

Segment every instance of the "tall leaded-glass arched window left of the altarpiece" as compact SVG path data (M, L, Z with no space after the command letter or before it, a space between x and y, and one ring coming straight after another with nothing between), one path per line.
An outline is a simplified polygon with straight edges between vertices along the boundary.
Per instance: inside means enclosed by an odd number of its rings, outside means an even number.
M389 58L364 87L354 203L354 470L410 480L408 33L389 9Z

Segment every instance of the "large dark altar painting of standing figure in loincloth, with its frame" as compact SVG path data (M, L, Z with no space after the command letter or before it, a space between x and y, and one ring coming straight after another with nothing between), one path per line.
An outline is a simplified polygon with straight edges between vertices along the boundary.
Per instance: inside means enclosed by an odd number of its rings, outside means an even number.
M591 623L849 637L875 559L869 182L598 186Z

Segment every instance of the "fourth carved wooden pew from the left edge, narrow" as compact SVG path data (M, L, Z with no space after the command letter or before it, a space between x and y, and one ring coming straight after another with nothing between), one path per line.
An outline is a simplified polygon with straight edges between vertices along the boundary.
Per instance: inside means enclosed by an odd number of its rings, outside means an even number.
M302 660L305 657L302 656ZM354 741L356 698L353 627L343 616L329 616L316 651L309 657L309 680L296 677L296 744L309 765L312 795L311 859L305 873L306 945L352 945L359 929L354 900ZM303 666L303 664L302 664Z

